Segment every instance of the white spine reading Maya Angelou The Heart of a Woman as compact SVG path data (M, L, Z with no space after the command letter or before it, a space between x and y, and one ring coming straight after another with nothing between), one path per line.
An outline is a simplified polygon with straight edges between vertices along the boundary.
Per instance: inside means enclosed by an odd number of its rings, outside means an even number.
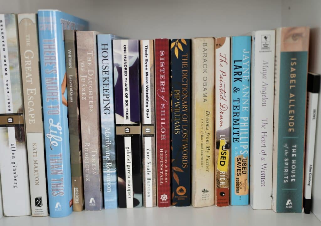
M275 30L252 35L250 204L272 208Z

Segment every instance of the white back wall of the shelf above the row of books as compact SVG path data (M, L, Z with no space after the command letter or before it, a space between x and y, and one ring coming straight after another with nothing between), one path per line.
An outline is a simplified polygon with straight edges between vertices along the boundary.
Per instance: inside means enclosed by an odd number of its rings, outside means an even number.
M8 2L20 2L17 8ZM59 9L127 38L241 35L282 24L279 0L0 0L1 13ZM254 19L255 18L255 19Z

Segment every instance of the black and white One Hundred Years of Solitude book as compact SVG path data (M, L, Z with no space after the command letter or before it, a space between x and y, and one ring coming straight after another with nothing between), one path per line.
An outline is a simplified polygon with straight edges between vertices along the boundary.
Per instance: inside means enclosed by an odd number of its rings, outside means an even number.
M143 205L139 41L113 40L118 206Z

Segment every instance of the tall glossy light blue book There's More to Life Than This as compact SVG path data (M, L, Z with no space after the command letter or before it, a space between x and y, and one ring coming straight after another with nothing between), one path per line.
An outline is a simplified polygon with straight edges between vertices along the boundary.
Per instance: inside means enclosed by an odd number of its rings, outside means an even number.
M51 217L72 211L66 66L63 30L86 29L87 22L57 10L39 10L39 52Z

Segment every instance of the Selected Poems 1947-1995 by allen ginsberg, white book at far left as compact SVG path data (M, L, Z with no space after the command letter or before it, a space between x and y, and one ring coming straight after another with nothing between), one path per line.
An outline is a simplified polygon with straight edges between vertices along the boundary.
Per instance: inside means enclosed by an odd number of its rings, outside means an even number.
M18 22L0 14L0 172L5 216L30 215ZM18 205L17 205L18 204Z

